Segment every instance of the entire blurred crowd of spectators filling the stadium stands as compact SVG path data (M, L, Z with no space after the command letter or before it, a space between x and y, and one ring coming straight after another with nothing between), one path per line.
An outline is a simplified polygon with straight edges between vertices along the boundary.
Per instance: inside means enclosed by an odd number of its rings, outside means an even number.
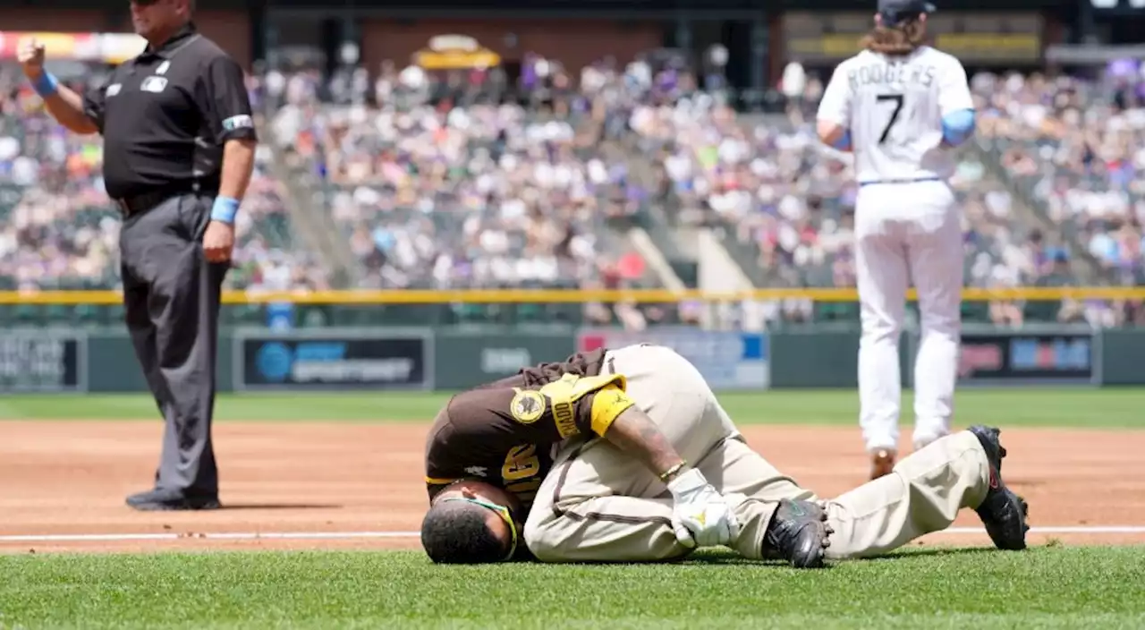
M851 286L850 157L814 137L822 82L795 77L785 73L779 117L737 115L687 72L639 62L577 74L532 58L519 85L498 69L443 77L393 65L330 81L308 71L251 77L270 142L240 213L230 285L330 281L271 175L276 152L291 152L323 184L305 210L331 214L366 288L638 282L643 266L609 255L605 225L652 203L682 223L725 228L771 284ZM1140 85L1136 73L973 78L982 145L996 152L964 151L954 181L968 284L1073 282L1082 261L1069 259L1071 241L1106 282L1145 284ZM118 221L102 194L100 140L49 124L15 69L0 69L0 282L113 286ZM641 160L658 188L630 172ZM1052 225L1032 222L1030 211ZM1111 325L1140 310L1066 305L1056 316ZM994 304L989 317L1024 314Z

